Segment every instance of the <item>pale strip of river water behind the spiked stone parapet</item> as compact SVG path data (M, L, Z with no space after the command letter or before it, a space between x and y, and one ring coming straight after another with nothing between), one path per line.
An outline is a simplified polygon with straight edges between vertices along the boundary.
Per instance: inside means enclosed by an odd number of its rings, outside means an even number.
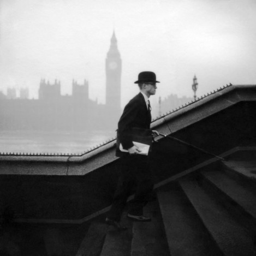
M1 153L83 153L90 148L115 138L114 131L35 132L1 131Z

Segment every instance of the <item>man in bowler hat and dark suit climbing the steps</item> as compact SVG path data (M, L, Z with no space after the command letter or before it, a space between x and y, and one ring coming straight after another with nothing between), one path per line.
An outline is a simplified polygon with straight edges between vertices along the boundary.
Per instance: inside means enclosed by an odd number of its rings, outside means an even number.
M148 195L152 192L153 182L148 164L148 155L141 154L133 140L136 136L145 141L159 135L156 130L150 130L151 106L149 98L156 94L156 74L153 72L141 72L138 81L140 93L137 94L125 106L123 114L118 122L116 156L121 157L121 176L117 184L114 200L106 218L106 223L113 225L118 230L125 230L120 224L120 218L130 195L133 185L136 185L134 199L130 201L127 217L133 221L147 222L150 217L143 214ZM146 144L150 144L145 142ZM121 152L122 148L127 152Z

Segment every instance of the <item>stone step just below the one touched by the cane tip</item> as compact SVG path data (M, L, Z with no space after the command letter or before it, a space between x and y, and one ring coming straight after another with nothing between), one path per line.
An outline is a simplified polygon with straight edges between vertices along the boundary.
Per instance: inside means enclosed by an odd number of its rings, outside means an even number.
M221 171L203 171L201 175L256 221L256 196L250 190Z

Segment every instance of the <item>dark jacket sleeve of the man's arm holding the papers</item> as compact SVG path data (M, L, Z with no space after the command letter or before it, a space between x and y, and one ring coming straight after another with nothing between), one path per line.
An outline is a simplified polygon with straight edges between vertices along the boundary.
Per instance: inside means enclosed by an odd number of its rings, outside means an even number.
M133 146L132 137L129 134L132 131L133 123L138 114L138 104L136 101L129 102L123 110L123 114L118 122L118 135L123 148Z

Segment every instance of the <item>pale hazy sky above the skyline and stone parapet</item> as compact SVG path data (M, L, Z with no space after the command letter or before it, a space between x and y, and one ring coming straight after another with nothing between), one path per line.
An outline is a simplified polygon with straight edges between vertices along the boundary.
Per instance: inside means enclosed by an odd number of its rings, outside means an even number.
M89 80L105 103L105 58L115 29L122 58L122 107L142 70L156 72L158 96L192 97L229 84L256 82L255 0L1 0L0 91L41 78Z

